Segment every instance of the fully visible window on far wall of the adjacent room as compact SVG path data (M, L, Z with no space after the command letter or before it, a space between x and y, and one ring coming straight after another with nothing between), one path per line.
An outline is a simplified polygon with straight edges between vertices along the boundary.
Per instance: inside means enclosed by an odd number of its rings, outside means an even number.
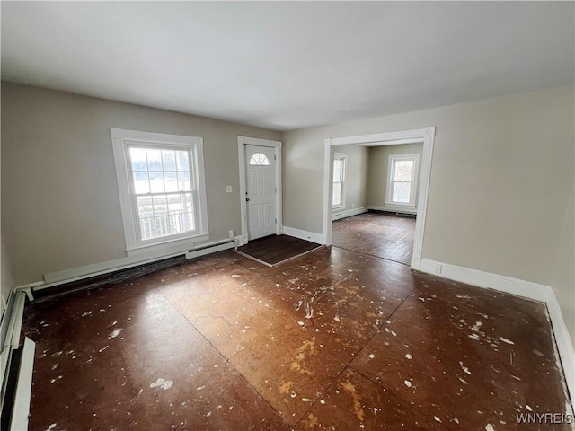
M390 155L386 204L415 207L420 154Z

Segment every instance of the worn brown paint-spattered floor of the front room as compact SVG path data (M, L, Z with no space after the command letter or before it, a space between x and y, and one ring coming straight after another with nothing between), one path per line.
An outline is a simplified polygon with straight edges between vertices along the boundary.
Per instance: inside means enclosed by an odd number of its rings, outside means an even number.
M546 430L516 414L568 408L541 303L336 247L218 253L24 326L31 430Z

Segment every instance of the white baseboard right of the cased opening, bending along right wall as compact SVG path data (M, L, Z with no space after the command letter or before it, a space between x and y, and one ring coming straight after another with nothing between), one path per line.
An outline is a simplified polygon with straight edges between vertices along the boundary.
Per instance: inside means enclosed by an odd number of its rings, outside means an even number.
M440 273L436 271L438 266L441 268ZM499 274L492 274L478 269L458 267L430 259L421 259L420 270L468 285L485 287L545 303L549 320L553 327L559 357L561 358L563 373L567 381L567 390L571 400L575 400L575 350L573 349L561 308L550 286L518 278L500 276Z

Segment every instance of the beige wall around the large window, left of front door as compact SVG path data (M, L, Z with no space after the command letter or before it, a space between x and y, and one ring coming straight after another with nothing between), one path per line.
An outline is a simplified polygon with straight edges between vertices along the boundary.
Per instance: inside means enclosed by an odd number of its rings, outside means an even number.
M281 139L276 131L3 83L2 232L17 285L126 256L110 128L204 138L210 241L241 232L237 136Z

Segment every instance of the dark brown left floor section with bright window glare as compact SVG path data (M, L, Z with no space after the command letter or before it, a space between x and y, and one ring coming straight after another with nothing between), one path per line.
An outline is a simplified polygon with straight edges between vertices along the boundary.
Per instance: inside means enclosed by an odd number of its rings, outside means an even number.
M164 295L114 289L34 307L30 429L288 429Z

